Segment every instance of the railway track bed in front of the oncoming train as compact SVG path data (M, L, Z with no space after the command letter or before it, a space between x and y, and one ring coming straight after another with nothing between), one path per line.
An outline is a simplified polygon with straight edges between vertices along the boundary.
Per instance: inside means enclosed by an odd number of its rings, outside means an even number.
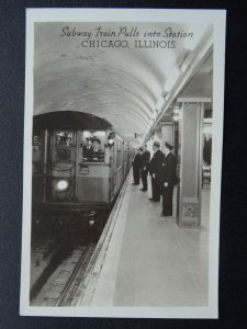
M101 216L101 226L91 231L82 231L70 223L66 236L58 238L50 235L34 240L31 252L32 306L63 306L70 303L77 284L83 280L83 269L101 236L106 215Z

